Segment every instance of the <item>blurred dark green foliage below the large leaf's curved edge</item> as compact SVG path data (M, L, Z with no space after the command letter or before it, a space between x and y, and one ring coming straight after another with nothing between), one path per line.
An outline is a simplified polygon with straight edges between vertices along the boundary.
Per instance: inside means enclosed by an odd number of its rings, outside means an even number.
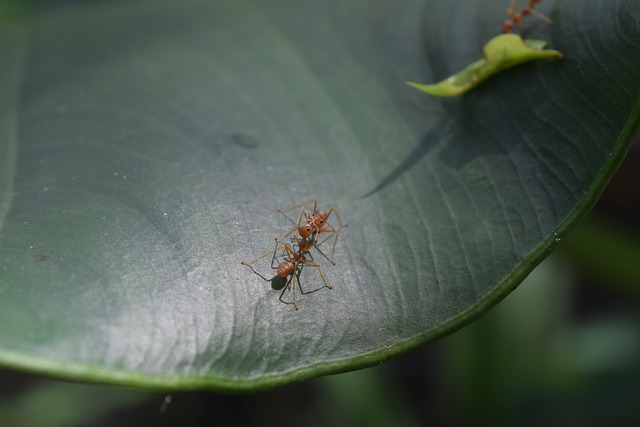
M639 264L640 139L520 287L420 351L251 395L168 397L0 370L0 426L638 426Z

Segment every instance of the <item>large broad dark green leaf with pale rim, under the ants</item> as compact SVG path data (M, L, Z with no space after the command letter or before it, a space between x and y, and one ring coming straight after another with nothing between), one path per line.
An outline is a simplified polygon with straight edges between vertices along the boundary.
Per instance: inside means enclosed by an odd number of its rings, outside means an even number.
M639 122L635 0L544 2L555 24L523 31L562 61L461 98L406 87L477 57L504 3L101 1L3 26L0 363L254 390L486 312L595 203ZM333 289L296 312L240 261L309 199L349 226L336 266L314 255Z

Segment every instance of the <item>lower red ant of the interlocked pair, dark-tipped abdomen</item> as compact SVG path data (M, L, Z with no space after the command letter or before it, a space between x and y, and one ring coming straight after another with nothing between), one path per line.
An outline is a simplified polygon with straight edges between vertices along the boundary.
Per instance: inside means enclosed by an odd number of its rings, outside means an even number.
M267 282L274 282L274 280L276 279L286 279L287 277L291 276L291 279L289 279L288 283L284 286L284 289L282 289L282 292L280 293L280 297L278 298L281 302L285 303L285 304L293 304L293 308L295 308L296 310L298 309L298 304L296 302L296 289L298 287L300 287L300 292L303 295L306 294L310 294L312 292L318 291L322 288L318 288L318 289L314 289L312 291L309 292L305 292L302 289L302 286L300 285L300 271L302 270L302 265L306 264L306 265L311 265L315 268L318 269L318 273L320 274L320 277L322 278L322 281L324 282L324 286L325 288L329 288L331 289L331 285L327 283L327 281L324 278L324 274L322 274L322 270L320 270L320 265L317 262L314 262L312 260L308 260L304 258L304 254L309 252L309 249L311 248L312 244L309 244L307 242L307 240L298 240L296 237L294 237L297 245L298 245L298 250L294 251L291 246L289 246L287 243L282 242L280 240L278 240L278 238L276 237L276 247L267 252L266 254L262 255L260 258L248 262L248 261L242 261L241 264L246 265L247 267L249 267L254 273L256 273L258 276L260 276L262 279L264 279ZM273 266L273 263L276 259L276 254L278 253L279 250L283 249L285 251L286 257L287 259L285 261L280 262L276 267ZM276 270L276 275L271 278L271 279L267 279L266 277L264 277L262 274L258 273L256 270L253 269L253 267L251 267L252 264L260 261L263 258L266 258L267 256L273 254L273 258L271 259L271 268L273 268L274 270ZM296 279L297 279L297 283L296 283ZM293 282L293 286L291 286L291 282ZM282 299L282 297L284 296L284 293L287 289L293 289L293 302L287 302L284 301Z

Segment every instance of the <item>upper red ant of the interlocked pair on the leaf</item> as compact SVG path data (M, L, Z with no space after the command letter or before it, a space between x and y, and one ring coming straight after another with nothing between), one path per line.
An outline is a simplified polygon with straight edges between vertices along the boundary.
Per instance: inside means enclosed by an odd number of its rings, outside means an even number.
M309 206L311 203L313 203L313 208ZM296 221L289 218L289 216L285 213L299 207L302 207L302 209L300 210L300 214L298 215L298 219ZM307 211L311 213L309 214L307 213ZM287 234L284 235L284 237L289 237L297 231L297 234L294 234L294 239L296 239L296 236L300 236L303 240L310 238L309 246L306 249L307 252L309 251L309 249L311 249L311 247L313 247L313 245L316 244L320 233L334 233L335 237L333 239L333 246L331 249L331 258L328 259L333 265L336 265L336 262L333 259L333 254L336 251L336 243L338 243L338 235L340 233L331 224L329 224L327 220L329 219L331 214L335 212L336 217L340 222L341 229L346 227L348 224L344 224L342 222L342 219L340 218L340 215L338 215L338 211L335 208L331 208L329 209L329 212L325 212L318 209L317 200L308 200L306 202L292 206L284 211L278 209L278 212L284 215L293 224L293 228L289 230Z

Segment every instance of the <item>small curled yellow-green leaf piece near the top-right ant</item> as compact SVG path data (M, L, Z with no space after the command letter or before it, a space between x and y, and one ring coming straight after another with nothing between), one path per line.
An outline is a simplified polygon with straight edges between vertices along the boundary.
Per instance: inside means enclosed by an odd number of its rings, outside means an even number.
M458 96L473 89L480 83L499 73L523 62L543 58L562 58L557 50L544 49L547 42L543 40L524 40L517 34L500 34L482 49L484 57L463 70L439 83L425 85L407 82L411 87L435 96Z

